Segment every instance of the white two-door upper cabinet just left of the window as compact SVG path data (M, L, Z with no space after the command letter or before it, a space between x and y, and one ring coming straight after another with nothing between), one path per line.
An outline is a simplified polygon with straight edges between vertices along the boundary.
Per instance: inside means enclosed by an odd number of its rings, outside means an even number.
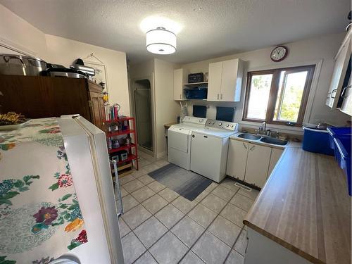
M244 62L235 58L209 64L208 101L240 101Z

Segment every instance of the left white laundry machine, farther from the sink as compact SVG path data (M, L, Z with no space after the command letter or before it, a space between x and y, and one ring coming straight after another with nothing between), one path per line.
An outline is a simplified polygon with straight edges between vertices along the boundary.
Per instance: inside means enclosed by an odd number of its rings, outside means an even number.
M206 118L186 116L180 124L168 129L168 161L190 170L191 133L206 127Z

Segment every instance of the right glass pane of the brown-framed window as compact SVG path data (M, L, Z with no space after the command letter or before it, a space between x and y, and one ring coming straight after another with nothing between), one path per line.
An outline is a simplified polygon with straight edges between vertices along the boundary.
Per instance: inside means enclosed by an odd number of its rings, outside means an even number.
M281 72L274 120L297 121L307 75L308 71L295 73Z

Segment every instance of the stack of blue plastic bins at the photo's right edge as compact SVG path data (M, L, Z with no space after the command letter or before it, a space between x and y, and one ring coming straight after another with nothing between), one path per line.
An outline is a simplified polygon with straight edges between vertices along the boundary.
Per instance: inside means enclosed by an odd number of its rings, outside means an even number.
M342 170L344 170L348 182L348 194L351 196L351 144L352 128L351 127L328 127L330 143L334 149L335 158Z

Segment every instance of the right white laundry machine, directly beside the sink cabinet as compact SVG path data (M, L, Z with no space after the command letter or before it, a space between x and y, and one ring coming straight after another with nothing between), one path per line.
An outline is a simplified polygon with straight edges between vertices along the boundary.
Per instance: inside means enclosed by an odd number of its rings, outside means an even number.
M215 182L226 176L229 138L238 124L208 119L206 127L191 132L191 170Z

